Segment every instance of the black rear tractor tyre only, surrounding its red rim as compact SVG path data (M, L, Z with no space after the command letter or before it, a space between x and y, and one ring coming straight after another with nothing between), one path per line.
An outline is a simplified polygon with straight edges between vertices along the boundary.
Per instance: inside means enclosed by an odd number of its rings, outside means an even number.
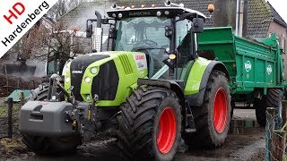
M215 99L214 93L216 93L217 87L225 90L227 99L226 123L222 133L217 133L213 126L213 100ZM222 146L229 131L231 114L230 89L223 72L213 71L211 73L204 93L203 106L192 106L192 112L196 123L196 132L183 135L187 146L196 148L217 148Z

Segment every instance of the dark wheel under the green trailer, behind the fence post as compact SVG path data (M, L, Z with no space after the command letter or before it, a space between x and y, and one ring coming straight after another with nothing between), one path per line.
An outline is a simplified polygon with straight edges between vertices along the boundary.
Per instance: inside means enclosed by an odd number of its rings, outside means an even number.
M266 108L270 107L281 107L281 101L283 99L283 92L280 89L268 89L267 95L263 96L262 99L255 99L253 107L256 110L257 122L260 126L266 124Z

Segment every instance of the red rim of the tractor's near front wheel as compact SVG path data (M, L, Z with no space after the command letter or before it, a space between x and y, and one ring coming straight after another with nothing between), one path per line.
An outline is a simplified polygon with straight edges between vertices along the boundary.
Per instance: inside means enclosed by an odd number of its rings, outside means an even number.
M157 131L157 144L162 154L167 154L173 146L177 134L176 115L172 108L167 107L161 113Z

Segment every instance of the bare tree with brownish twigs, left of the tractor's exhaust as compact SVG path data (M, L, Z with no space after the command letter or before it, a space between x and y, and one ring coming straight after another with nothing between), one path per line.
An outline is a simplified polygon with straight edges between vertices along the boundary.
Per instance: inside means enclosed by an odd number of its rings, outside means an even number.
M29 36L23 39L22 59L53 61L54 71L57 71L69 58L88 53L90 42L90 39L81 37L78 29L67 30L63 22L53 25L51 29L40 25L30 30Z

